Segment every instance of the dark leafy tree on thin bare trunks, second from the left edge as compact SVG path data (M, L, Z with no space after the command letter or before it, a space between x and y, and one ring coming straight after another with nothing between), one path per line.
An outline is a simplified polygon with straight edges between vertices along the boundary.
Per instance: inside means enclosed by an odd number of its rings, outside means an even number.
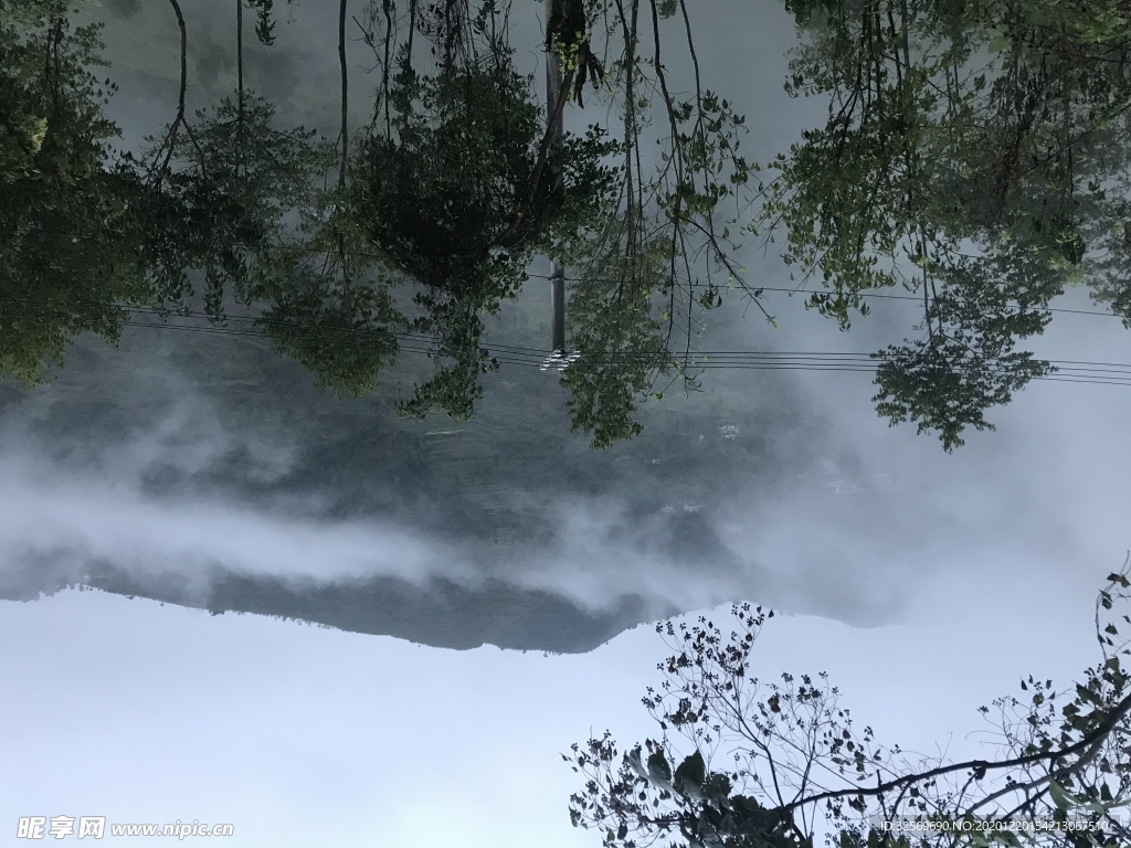
M187 32L178 0L170 0L181 34L176 113L150 138L141 161L132 163L143 188L147 228L146 261L157 297L174 305L195 294L188 270L204 277L205 310L224 315L224 298L256 298L252 269L287 240L287 216L316 201L318 178L329 149L302 127L279 129L275 106L243 83L243 2L236 1L238 79L235 97L185 114ZM270 2L256 2L256 27L265 44L274 41Z

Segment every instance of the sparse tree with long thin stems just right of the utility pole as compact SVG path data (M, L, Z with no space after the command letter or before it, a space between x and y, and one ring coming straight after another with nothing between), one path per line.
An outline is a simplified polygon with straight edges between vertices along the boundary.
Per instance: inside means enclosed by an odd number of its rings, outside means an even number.
M760 292L731 258L751 171L740 153L744 119L705 86L682 0L562 0L553 10L547 44L575 75L578 102L581 81L599 77L598 96L621 119L615 201L564 257L576 278L569 323L580 356L561 382L571 393L572 427L604 448L641 432L633 417L640 401L663 397L673 383L698 388L696 339L724 292L736 289L762 309ZM676 16L682 44L674 46L692 69L679 86L662 24ZM597 53L606 59L597 62ZM654 141L661 156L649 170L642 162L654 154L644 150Z

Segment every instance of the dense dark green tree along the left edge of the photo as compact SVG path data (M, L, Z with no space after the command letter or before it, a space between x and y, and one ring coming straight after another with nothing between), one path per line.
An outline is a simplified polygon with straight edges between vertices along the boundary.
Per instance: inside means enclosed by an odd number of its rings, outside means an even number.
M113 85L90 70L98 27L48 0L0 2L0 378L32 384L76 336L115 341L147 289L131 182L109 166Z

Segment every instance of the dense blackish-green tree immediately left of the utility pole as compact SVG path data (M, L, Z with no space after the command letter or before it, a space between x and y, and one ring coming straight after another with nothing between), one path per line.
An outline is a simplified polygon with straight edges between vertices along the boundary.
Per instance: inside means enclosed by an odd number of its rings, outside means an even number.
M468 417L480 375L498 366L481 344L483 315L520 291L535 252L576 239L608 192L610 145L596 131L551 142L506 18L493 5L473 17L447 3L411 21L404 43L388 26L383 40L366 32L387 62L373 124L322 202L325 220L304 225L311 241L266 284L268 331L323 386L375 390L407 332L439 366L403 412ZM414 68L414 32L433 44L428 72Z

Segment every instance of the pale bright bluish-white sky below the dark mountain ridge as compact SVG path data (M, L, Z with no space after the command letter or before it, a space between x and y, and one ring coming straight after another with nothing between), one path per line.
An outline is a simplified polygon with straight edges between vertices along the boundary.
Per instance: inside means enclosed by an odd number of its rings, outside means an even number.
M976 708L1019 676L1093 661L1085 596L972 591L941 625L775 618L757 668L828 670L881 741L960 756L984 738L967 738ZM639 698L664 656L649 628L577 656L446 651L75 590L8 605L0 638L3 827L199 819L256 848L592 846L559 754L606 727L653 733Z

